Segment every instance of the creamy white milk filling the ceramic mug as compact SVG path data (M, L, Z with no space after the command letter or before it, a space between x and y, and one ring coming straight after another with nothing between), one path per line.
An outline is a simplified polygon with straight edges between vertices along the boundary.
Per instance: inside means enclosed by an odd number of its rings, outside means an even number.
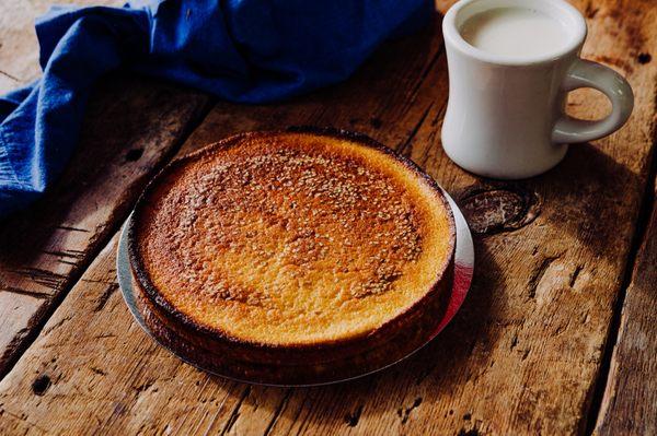
M560 21L523 8L492 9L468 19L460 28L470 45L514 58L558 52L570 39Z

